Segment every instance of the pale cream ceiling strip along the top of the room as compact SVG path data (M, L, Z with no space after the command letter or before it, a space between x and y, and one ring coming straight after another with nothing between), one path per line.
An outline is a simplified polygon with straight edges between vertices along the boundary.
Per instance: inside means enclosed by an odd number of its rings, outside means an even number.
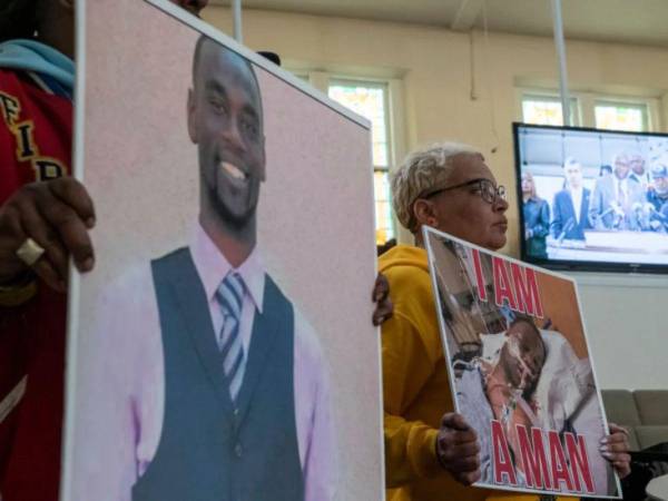
M229 6L230 0L210 0ZM413 22L468 31L552 36L550 0L243 0L264 9L379 21ZM567 38L668 47L668 0L562 0Z

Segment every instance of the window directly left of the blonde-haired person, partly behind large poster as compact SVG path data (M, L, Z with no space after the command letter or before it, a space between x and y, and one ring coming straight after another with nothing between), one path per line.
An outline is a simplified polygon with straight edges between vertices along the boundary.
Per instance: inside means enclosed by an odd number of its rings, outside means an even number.
M330 97L371 121L373 143L376 244L394 237L390 198L390 125L387 85L373 81L331 79Z

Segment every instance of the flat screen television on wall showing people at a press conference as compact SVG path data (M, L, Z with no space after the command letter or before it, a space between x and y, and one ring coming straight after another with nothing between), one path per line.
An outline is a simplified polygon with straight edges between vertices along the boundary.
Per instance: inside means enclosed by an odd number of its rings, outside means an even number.
M513 124L522 259L668 273L668 135Z

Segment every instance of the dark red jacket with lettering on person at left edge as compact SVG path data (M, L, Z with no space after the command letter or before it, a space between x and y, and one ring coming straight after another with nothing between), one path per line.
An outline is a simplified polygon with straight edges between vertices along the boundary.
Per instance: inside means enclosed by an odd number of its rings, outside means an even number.
M0 70L0 204L21 186L67 175L71 102ZM38 284L0 306L0 493L57 501L63 409L67 298Z

